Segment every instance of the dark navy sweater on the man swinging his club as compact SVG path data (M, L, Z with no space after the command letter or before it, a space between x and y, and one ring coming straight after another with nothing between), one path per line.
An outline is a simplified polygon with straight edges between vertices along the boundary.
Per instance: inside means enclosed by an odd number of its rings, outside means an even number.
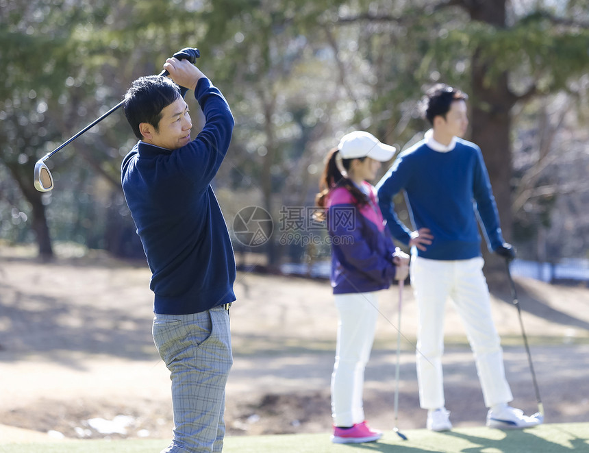
M187 315L235 300L233 247L210 183L231 141L234 119L221 92L201 78L195 97L206 123L188 145L138 142L121 165L155 294L153 310Z

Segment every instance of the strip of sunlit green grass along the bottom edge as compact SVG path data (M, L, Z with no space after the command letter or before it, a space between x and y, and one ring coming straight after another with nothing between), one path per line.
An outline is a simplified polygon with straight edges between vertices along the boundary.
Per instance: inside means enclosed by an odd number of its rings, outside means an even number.
M379 442L334 445L329 434L231 436L224 453L349 453L352 451L417 453L571 453L589 452L589 422L547 424L527 430L501 431L458 428L450 432L403 430L403 441L392 431ZM158 453L167 440L52 441L2 443L1 453Z

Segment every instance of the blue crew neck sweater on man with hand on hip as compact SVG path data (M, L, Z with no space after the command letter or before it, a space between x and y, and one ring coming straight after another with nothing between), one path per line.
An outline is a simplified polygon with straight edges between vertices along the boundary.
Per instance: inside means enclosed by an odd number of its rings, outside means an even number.
M451 151L434 151L425 140L399 155L377 184L379 206L394 238L408 244L411 230L392 206L405 192L414 230L429 228L434 240L418 256L434 260L465 260L481 255L477 213L488 247L503 243L497 206L481 150L458 138Z

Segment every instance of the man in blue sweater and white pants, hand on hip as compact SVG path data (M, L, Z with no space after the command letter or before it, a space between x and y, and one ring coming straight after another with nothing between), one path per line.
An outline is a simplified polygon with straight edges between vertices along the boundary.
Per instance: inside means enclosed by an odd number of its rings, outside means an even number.
M418 304L417 378L427 428L449 430L442 377L444 306L450 297L464 321L492 428L526 428L540 423L507 403L503 350L494 326L481 257L481 218L490 249L515 256L503 241L499 216L481 150L462 140L468 126L466 95L438 85L427 93L425 117L432 129L404 151L377 184L379 205L392 236L412 247L410 276ZM392 197L405 192L410 230L399 221Z

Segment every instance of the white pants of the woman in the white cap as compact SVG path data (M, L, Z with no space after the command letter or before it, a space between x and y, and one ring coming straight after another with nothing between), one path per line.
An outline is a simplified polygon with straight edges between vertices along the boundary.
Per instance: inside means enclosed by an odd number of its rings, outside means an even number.
M378 317L377 293L336 294L340 314L336 362L331 374L334 426L364 421L364 368L370 358Z

